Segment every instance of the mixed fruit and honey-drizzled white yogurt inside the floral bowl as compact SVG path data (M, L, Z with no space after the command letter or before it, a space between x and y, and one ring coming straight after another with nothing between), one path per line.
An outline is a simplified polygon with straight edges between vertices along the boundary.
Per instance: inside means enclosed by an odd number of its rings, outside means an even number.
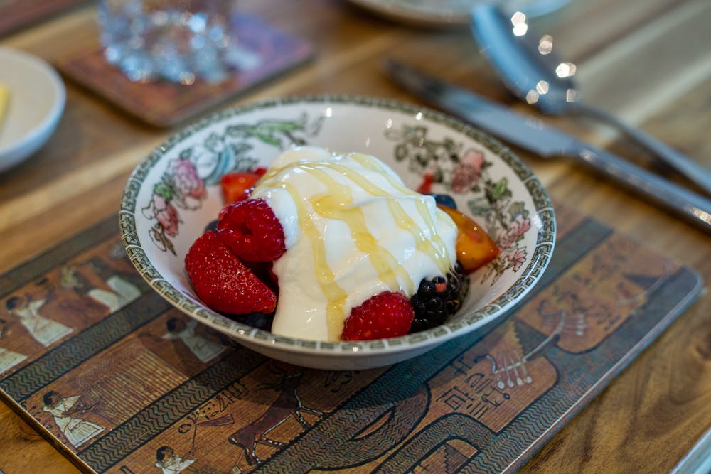
M186 254L198 298L235 321L305 340L399 337L454 316L466 275L498 254L375 156L299 146L262 170L223 176L225 208Z

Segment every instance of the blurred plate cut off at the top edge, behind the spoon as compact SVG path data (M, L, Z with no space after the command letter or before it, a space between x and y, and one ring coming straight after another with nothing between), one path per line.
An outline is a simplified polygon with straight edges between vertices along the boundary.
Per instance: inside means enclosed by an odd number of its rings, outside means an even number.
M387 18L423 26L469 25L469 11L492 0L351 0ZM569 0L498 0L507 11L523 11L535 18L559 9Z

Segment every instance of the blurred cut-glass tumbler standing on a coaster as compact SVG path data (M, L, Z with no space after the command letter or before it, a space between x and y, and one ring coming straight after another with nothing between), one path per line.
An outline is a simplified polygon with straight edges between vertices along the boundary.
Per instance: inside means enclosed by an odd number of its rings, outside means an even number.
M107 61L134 82L220 82L240 65L236 0L97 0Z

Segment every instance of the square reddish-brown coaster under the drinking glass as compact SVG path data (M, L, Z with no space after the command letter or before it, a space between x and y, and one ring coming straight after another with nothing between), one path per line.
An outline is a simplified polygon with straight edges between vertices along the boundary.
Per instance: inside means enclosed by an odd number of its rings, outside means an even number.
M72 55L61 60L57 67L70 80L104 97L124 112L153 126L169 127L314 57L310 43L283 33L260 18L240 16L237 31L250 61L217 84L201 80L191 85L166 80L147 84L132 82L119 68L107 63L101 49Z

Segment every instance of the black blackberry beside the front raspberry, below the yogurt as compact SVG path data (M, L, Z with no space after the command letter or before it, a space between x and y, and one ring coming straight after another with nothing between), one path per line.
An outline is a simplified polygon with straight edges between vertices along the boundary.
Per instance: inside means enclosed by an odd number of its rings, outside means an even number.
M459 262L456 262L454 270L446 277L435 276L431 280L420 281L417 293L410 298L415 311L410 333L444 324L459 311L468 290L469 279Z

